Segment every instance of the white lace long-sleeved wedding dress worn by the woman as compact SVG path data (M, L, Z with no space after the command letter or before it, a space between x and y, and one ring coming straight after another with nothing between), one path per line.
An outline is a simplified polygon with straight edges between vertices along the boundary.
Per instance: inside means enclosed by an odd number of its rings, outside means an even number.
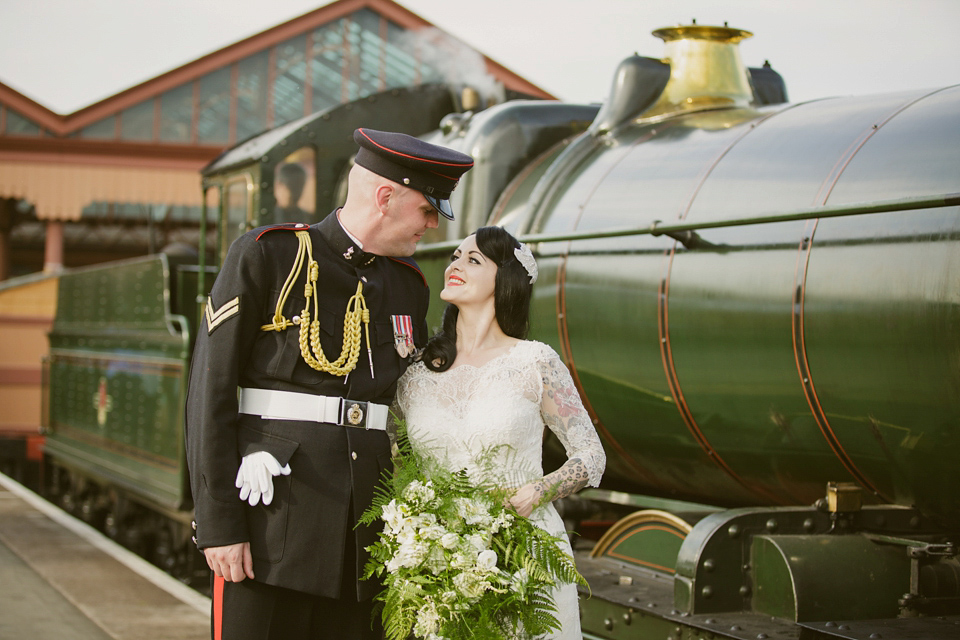
M597 432L560 356L543 343L522 341L482 366L459 365L443 373L418 362L398 383L396 408L414 449L450 469L510 487L539 480L546 425L567 452L567 462L551 479L600 483L606 456ZM491 450L495 464L478 467L477 459ZM491 468L498 477L488 477ZM531 519L563 535L572 555L552 503L536 509ZM554 598L562 631L548 637L581 640L576 585L563 585Z

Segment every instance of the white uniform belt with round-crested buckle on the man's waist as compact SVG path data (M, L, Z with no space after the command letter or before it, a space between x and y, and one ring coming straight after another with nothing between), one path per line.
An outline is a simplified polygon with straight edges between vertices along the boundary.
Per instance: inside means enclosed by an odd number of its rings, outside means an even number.
M240 389L240 413L272 420L326 422L359 429L387 428L385 404L293 391Z

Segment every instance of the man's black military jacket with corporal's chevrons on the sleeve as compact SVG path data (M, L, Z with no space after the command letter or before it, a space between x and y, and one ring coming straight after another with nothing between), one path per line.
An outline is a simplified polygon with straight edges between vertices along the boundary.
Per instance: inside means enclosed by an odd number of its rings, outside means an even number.
M345 536L356 536L356 575L362 575L376 529L355 519L369 506L381 471L390 464L383 431L317 422L269 420L239 414L238 387L346 397L389 405L408 360L394 347L392 315L410 316L414 342L426 342L429 291L409 258L364 253L345 233L336 213L309 227L317 285L321 343L336 360L343 344L347 302L363 282L370 311L374 377L361 343L356 368L343 377L312 369L300 353L299 327L263 331L297 254L294 231L306 225L264 227L231 246L198 329L186 403L187 461L193 490L197 544L249 541L256 579L336 598L340 594ZM304 308L304 267L283 315ZM311 304L312 312L312 304ZM269 451L289 476L274 478L269 506L249 506L235 486L241 458ZM349 514L352 501L353 518ZM349 590L349 585L345 585ZM359 581L359 599L374 595L374 581Z

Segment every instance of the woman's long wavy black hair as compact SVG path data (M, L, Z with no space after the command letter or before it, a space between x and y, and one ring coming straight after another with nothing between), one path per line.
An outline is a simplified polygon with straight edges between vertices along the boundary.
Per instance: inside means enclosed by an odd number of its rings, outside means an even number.
M477 229L477 248L497 265L493 284L493 304L497 324L513 338L527 337L530 329L530 275L513 253L520 243L501 227ZM440 331L427 342L423 363L433 371L446 371L457 358L457 318L460 310L448 304L443 310Z

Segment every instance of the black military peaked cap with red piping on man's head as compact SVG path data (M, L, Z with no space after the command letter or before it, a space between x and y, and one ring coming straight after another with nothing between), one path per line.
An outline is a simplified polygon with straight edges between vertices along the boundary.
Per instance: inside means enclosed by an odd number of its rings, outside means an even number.
M453 220L450 194L473 158L404 133L357 129L357 164L422 193L444 217Z

